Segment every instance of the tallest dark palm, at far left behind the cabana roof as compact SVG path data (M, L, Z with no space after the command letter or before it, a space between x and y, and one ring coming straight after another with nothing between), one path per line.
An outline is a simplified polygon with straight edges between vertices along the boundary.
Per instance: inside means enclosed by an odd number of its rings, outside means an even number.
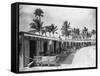
M34 12L35 15L35 19L33 19L33 22L30 24L31 28L34 30L31 30L31 32L41 32L42 30L42 26L43 26L43 22L41 21L41 17L43 17L44 12L42 11L42 9L37 8Z

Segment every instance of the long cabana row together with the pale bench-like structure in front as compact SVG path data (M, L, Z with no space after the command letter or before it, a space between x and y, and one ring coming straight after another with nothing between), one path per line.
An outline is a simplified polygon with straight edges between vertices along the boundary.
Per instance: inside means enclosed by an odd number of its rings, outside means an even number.
M33 66L51 64L57 66L58 56L62 53L72 52L76 48L88 46L91 43L95 44L95 41L62 40L61 38L19 32L19 67L29 67L33 63Z

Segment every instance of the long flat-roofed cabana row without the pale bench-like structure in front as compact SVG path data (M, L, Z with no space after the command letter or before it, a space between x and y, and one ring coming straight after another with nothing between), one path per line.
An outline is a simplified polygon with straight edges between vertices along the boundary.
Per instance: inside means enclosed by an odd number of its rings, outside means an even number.
M55 56L61 53L71 52L72 48L78 49L95 44L94 40L61 40L31 34L28 32L19 33L20 45L20 66L27 66L34 56Z

